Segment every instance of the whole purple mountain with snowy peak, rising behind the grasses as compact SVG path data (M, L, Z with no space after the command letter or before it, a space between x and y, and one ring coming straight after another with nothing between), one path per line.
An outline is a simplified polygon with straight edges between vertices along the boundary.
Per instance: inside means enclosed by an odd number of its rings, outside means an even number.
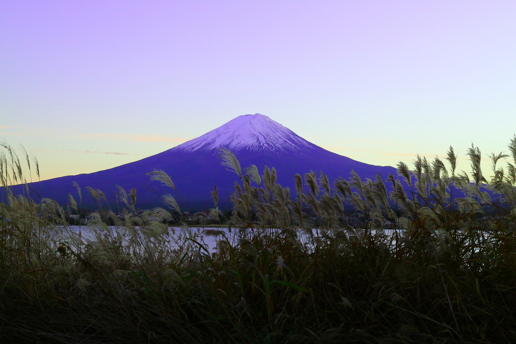
M160 195L170 192L182 208L186 204L190 210L200 210L213 207L210 191L217 185L219 207L228 208L230 201L226 193L230 195L233 192L233 182L238 176L221 165L220 148L231 150L243 169L256 165L261 173L264 166L276 168L278 183L289 187L293 194L293 176L297 173L302 176L311 170L325 172L330 181L338 177L348 178L352 169L362 178L374 178L380 172L385 179L389 172L396 172L393 167L368 165L329 152L267 116L256 113L239 116L163 153L109 170L49 179L41 182L41 185L33 183L33 188L38 192L41 190L42 198L67 204L68 193L78 201L77 191L72 185L72 182L77 182L83 189L84 206L94 204L85 190L86 186L90 186L102 190L116 209L115 185L120 185L127 191L131 188L137 190L138 208L161 206ZM173 190L149 179L146 173L155 169L164 170L170 175L184 204Z

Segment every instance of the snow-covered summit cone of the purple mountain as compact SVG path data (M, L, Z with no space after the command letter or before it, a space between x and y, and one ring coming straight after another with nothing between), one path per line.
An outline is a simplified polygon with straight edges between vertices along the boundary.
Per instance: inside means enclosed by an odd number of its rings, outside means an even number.
M255 113L238 116L211 132L176 146L171 151L187 153L218 148L227 148L234 152L247 150L279 153L315 149L317 146L267 116Z

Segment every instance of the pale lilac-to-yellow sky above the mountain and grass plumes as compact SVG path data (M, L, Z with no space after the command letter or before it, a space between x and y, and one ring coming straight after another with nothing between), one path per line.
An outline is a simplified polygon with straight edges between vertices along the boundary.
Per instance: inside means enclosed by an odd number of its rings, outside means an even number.
M467 170L472 141L486 156L516 133L515 18L514 1L4 0L0 138L46 179L260 112L375 165L451 144Z

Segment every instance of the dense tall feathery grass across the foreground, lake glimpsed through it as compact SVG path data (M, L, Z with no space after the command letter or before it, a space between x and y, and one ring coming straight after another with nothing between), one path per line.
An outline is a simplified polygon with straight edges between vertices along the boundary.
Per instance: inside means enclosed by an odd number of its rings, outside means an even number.
M25 179L4 148L6 187ZM516 164L516 136L509 150ZM173 214L138 211L136 192L120 189L120 218L89 189L100 208L86 237L55 202L35 203L28 187L8 192L0 205L0 341L514 343L515 165L504 172L496 164L508 156L492 154L488 183L478 148L467 154L473 182L456 172L450 148L445 161L417 157L412 171L400 162L399 178L385 184L355 173L334 183L324 173L296 175L293 200L274 169L242 172L222 151L238 174L232 216L220 215L215 190L214 209L197 217L228 230L179 221L182 235L167 224L181 214L171 194L164 202ZM175 189L162 171L150 177ZM69 207L78 208L72 196ZM206 247L208 236L217 250Z

